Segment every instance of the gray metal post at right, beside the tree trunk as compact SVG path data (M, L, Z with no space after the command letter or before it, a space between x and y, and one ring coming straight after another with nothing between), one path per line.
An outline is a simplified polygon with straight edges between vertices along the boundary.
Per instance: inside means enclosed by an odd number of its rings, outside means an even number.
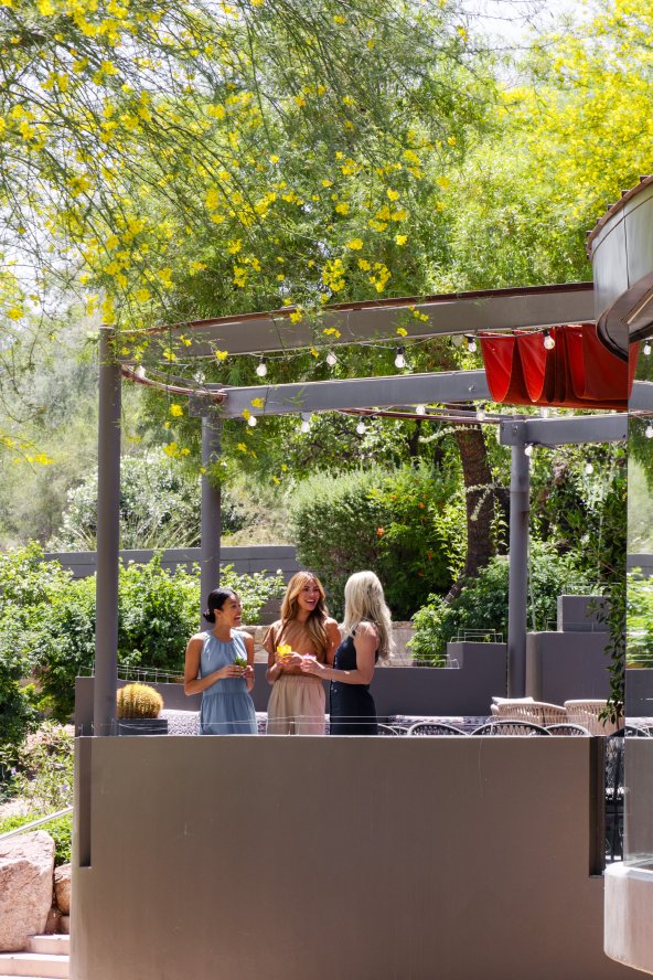
M512 447L510 516L510 586L507 612L507 693L526 692L526 611L528 594L529 459L524 444Z

